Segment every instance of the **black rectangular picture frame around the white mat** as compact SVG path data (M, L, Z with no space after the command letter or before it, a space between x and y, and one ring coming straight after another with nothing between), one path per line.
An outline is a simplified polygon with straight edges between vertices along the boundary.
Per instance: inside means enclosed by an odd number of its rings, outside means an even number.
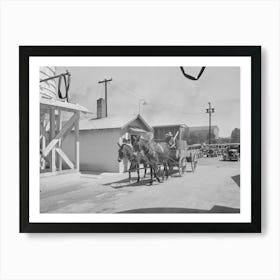
M250 223L32 223L29 221L29 58L32 56L247 56L251 58ZM20 46L21 233L261 232L261 46Z

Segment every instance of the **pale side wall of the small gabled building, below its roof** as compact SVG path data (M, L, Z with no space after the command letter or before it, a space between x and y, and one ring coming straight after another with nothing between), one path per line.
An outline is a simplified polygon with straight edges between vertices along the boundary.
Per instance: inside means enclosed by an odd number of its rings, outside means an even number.
M80 130L80 170L119 172L118 146L120 129ZM74 134L62 143L63 150L74 160Z

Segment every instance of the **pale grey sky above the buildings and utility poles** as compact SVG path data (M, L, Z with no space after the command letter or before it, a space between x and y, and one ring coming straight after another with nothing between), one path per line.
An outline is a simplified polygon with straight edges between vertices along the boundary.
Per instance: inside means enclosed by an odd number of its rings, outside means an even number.
M189 80L179 67L56 67L57 73L71 73L69 101L79 103L96 114L96 100L104 98L108 83L108 115L139 112L150 125L185 123L204 126L208 102L215 108L212 125L220 137L229 137L240 128L240 68L206 67L199 80ZM197 76L199 67L184 67ZM141 101L145 100L145 102Z

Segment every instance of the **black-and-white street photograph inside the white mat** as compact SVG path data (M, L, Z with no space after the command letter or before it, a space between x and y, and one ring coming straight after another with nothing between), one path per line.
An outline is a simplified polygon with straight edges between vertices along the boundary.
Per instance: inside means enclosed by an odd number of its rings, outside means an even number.
M39 71L41 213L240 213L239 67Z

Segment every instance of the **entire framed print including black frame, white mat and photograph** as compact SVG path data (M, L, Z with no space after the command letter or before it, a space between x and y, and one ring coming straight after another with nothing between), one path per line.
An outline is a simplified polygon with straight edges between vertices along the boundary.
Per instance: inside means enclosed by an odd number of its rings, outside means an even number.
M176 232L174 224L245 231L259 221L258 115L250 116L258 114L259 47L20 50L29 77L28 85L21 78L28 223Z

